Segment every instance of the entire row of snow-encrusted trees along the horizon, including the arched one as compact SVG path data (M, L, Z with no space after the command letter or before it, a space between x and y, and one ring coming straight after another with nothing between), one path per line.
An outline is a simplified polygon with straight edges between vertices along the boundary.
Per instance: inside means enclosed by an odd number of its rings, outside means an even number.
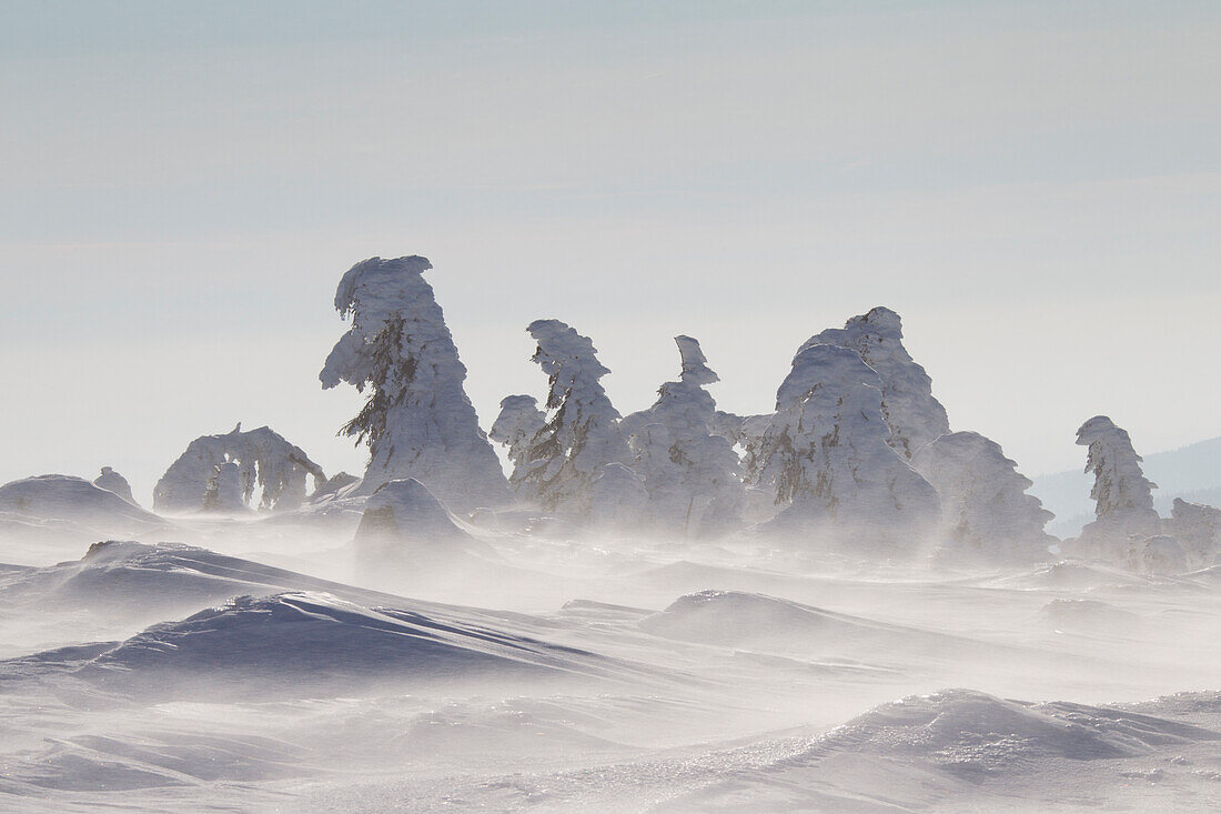
M422 257L354 265L335 306L348 320L320 374L366 395L343 433L370 451L363 478L327 482L267 428L194 441L156 488L168 510L368 499L415 480L447 508L532 508L603 530L717 537L739 530L827 549L932 552L956 561L1038 561L1059 543L1051 513L1001 447L952 431L932 380L902 343L899 314L874 308L806 341L762 416L717 409L718 381L690 336L676 336L679 375L647 409L621 416L589 336L556 320L527 326L546 395L512 395L485 434ZM505 478L492 442L505 447ZM1066 546L1143 570L1205 562L1221 512L1176 504L1158 517L1127 433L1098 417L1082 427L1096 475L1098 519ZM398 488L402 491L402 488ZM405 494L405 493L404 493ZM1167 565L1170 562L1170 565Z

